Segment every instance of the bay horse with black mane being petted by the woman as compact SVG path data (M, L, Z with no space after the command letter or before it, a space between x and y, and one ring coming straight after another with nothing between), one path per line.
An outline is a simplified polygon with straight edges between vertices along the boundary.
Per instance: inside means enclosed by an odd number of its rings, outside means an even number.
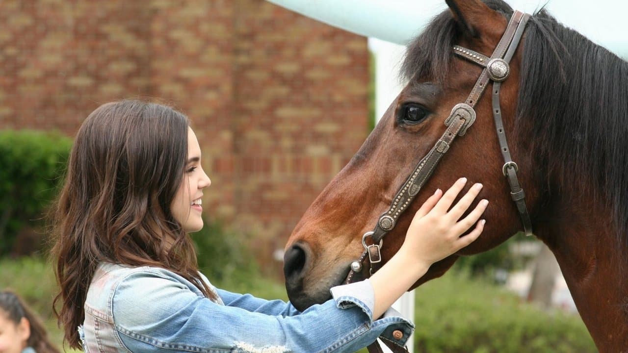
M399 187L443 135L452 107L482 74L453 48L490 57L513 14L501 0L447 4L408 45L401 68L407 85L288 239L284 274L296 308L328 300L329 288L343 283L364 251L362 234L377 227ZM529 18L509 70L498 104L529 224L555 254L597 348L627 352L628 63L541 9ZM490 93L475 103L474 124L396 219L381 246L382 260L398 251L426 198L462 176L467 185L484 184L477 198L490 200L484 232L433 264L413 288L443 275L460 256L492 249L522 229L504 177Z

